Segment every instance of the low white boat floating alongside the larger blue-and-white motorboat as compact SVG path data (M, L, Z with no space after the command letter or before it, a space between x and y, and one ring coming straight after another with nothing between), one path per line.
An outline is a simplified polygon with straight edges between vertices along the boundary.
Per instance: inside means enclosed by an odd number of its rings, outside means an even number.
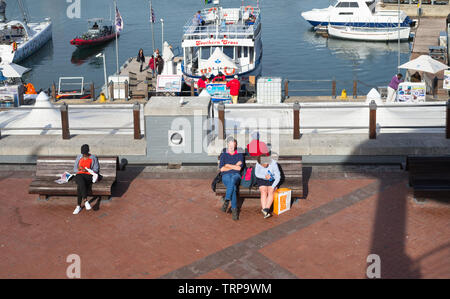
M334 38L359 41L408 41L410 27L368 28L349 26L328 26L328 35Z

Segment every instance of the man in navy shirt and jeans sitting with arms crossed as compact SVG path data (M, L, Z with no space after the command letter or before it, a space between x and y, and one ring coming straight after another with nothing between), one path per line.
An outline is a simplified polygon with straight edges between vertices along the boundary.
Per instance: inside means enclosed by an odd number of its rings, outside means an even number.
M227 148L220 155L219 169L222 173L222 182L227 188L222 211L227 212L231 201L231 212L233 220L239 219L237 209L237 191L241 181L241 170L244 166L244 155L237 151L237 141L229 137L227 139Z

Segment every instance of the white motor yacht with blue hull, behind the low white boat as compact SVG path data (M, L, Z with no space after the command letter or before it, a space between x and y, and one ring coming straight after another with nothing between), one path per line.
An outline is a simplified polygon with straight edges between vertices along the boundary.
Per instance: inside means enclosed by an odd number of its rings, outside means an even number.
M378 0L338 0L324 9L303 12L302 17L313 27L410 27L412 20L404 11L377 10Z

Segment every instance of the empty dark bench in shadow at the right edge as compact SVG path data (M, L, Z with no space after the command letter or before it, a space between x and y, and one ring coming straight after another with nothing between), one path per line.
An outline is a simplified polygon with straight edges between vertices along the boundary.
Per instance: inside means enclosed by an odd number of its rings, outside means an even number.
M450 191L450 156L410 156L406 170L415 197L424 191Z

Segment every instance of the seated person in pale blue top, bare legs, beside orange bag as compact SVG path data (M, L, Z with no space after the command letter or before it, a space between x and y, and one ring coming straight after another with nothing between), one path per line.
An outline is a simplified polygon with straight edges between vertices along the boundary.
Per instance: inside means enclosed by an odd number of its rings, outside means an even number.
M255 167L256 183L261 192L261 212L264 218L272 216L270 207L273 203L273 193L281 179L277 162L271 156L260 156Z

